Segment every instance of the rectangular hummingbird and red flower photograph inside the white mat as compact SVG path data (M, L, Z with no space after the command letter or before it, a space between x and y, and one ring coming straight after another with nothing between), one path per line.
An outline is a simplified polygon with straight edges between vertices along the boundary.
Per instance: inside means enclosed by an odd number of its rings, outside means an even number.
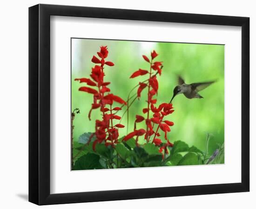
M224 49L71 38L71 170L223 164Z

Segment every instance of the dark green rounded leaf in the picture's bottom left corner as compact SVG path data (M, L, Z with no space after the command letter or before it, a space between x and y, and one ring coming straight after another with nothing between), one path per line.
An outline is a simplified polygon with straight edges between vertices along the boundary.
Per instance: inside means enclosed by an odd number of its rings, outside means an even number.
M74 163L73 170L102 169L99 160L99 155L87 153L86 155L83 155L77 159L77 161Z

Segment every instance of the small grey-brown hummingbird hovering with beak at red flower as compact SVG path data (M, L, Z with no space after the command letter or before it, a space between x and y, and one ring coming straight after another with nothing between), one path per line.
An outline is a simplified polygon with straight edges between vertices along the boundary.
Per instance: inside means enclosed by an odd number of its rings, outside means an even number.
M202 91L209 85L215 83L215 81L209 81L209 82L201 82L201 83L193 83L193 84L186 84L184 79L179 76L178 77L178 84L175 86L173 90L173 97L169 104L171 104L173 98L175 98L178 94L184 94L186 98L192 99L192 98L203 98L198 92Z

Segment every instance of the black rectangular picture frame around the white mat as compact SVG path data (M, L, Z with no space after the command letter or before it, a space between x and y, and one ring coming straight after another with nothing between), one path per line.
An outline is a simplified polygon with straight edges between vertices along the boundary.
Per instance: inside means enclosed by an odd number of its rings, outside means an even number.
M242 26L242 181L50 194L50 16ZM249 18L39 4L29 8L29 202L38 205L249 191Z

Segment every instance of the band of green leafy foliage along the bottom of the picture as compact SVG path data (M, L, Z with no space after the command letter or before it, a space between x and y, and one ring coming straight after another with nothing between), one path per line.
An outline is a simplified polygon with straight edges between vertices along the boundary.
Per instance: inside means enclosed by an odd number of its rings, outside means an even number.
M88 135L83 134L83 136ZM74 159L73 170L200 165L206 164L213 155L210 153L205 156L205 152L197 147L189 147L185 142L178 140L170 148L169 154L163 157L159 152L159 147L155 144L147 143L137 146L135 139L131 138L123 142L122 138L118 140L119 144L115 148L110 145L96 144L95 151L92 147L93 142L88 144L74 142L73 156L79 151L80 153ZM212 157L210 164L223 162L224 144L219 145L217 153L215 157Z

